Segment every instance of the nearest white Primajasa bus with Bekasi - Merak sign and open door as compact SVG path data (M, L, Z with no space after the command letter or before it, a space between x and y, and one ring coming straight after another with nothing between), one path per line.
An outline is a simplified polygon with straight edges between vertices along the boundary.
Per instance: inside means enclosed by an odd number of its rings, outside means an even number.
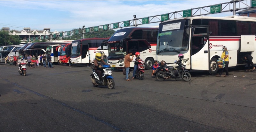
M229 67L245 66L242 61L245 54L256 58L255 35L255 17L176 18L159 24L156 59L176 66L174 61L182 53L187 69L215 74L223 46L227 46Z

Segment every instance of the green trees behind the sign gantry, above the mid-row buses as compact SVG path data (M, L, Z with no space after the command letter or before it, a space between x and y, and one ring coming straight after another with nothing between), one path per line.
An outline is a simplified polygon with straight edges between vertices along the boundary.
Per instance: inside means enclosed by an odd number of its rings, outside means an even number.
M73 30L77 30L77 29L73 29ZM88 32L88 33L84 33L84 38L108 38L108 37L111 37L115 32L116 31L114 30ZM77 40L82 38L83 38L83 34L75 34L68 37L62 37L62 39L65 39L65 40Z

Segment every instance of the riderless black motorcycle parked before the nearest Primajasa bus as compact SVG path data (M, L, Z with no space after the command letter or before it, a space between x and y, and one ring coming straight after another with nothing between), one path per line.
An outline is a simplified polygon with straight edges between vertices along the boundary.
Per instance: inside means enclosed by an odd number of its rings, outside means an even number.
M164 65L159 65L159 69L156 71L156 73L154 73L156 80L164 81L165 79L169 78L174 78L175 80L177 78L181 78L184 81L190 81L191 74L186 69L186 66L181 63L181 61L181 59L175 61L175 64L179 66L179 70L174 70L173 66L166 66L166 63Z

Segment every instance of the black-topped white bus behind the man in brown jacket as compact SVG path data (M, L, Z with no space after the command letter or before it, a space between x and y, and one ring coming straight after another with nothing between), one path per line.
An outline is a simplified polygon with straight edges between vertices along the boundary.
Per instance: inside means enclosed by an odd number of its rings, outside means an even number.
M145 68L152 69L156 59L156 40L158 28L124 28L117 30L108 44L108 64L116 69L124 67L124 56L127 52L140 52L140 59L145 60ZM130 63L130 67L134 62Z

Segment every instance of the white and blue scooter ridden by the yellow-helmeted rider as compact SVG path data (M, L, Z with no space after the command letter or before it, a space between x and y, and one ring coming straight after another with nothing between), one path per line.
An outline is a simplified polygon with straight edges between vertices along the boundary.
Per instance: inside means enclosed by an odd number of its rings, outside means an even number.
M102 80L100 82L100 78L98 77L97 73L95 73L95 69L92 69L92 85L93 87L98 87L99 85L108 86L108 89L113 89L115 87L115 82L112 75L112 70L109 65L103 65L100 69L103 70Z

